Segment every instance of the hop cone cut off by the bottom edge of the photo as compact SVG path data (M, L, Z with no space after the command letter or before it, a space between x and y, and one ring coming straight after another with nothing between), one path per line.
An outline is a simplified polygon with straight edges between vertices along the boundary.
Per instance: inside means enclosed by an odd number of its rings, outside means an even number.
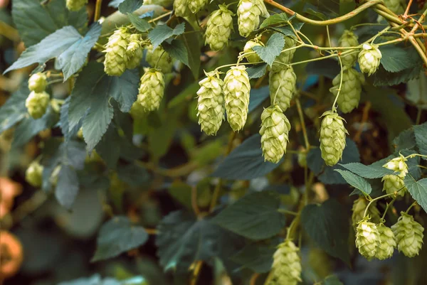
M299 251L291 240L280 244L273 255L273 266L265 285L297 285L302 271Z

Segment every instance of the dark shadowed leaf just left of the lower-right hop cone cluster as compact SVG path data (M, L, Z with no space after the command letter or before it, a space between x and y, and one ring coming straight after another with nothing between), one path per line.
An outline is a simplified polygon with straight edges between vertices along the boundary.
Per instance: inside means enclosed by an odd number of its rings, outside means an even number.
M322 205L307 205L301 225L307 235L325 252L349 264L349 222L345 208L337 200Z

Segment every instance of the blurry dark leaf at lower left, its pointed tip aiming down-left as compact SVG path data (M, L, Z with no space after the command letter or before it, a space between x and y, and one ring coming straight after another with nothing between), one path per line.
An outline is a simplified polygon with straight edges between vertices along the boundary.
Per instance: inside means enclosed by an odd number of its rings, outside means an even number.
M92 262L117 257L123 252L141 246L148 240L144 227L132 225L124 216L113 217L102 225Z

